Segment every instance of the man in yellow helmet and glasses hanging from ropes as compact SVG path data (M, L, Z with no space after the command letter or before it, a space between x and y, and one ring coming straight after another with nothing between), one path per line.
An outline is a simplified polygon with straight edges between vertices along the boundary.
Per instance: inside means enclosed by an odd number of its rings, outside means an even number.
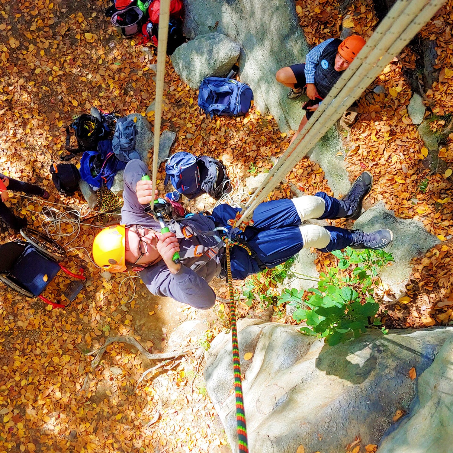
M135 270L149 291L172 297L195 308L211 308L216 295L209 282L222 272L223 244L213 233L226 227L239 208L221 204L212 216L193 214L178 219L171 227L176 233L161 234L159 223L147 210L152 200L152 183L142 181L146 165L133 159L124 171L122 225L102 230L93 243L93 258L101 268L112 272ZM252 255L240 246L231 249L231 273L245 279L262 269L274 267L294 256L302 248L316 247L334 251L347 246L382 249L393 240L390 230L364 233L335 226L302 224L308 219L357 219L363 198L371 191L373 178L364 172L342 199L318 192L292 200L261 203L253 214L254 225L239 232ZM156 197L158 194L155 194ZM174 263L179 251L182 263Z

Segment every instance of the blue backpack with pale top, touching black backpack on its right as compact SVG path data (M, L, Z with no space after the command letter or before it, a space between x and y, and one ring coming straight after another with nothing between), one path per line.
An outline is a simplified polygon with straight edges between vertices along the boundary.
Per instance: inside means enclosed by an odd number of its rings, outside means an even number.
M196 198L202 193L198 158L193 154L180 151L170 157L165 164L165 182L169 179L173 187L187 198Z

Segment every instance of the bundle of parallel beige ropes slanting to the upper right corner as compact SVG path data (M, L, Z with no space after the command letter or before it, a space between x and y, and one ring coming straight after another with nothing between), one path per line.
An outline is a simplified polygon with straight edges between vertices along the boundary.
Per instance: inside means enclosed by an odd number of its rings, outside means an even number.
M293 144L280 156L255 191L240 222L247 222L261 201L286 177L294 165L313 148L328 129L398 55L446 0L399 0L323 100ZM245 211L245 212L244 212Z

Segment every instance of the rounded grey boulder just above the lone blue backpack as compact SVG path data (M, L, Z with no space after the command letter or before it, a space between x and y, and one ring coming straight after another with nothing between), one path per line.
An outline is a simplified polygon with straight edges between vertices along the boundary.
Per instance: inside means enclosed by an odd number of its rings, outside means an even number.
M241 47L227 36L209 33L179 46L171 61L179 77L198 90L205 77L225 77L236 63Z

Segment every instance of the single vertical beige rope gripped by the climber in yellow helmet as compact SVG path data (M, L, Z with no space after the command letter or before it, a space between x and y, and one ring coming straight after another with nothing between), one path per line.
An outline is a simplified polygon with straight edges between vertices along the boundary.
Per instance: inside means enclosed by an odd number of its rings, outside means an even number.
M157 44L156 97L154 110L154 152L153 152L153 197L156 190L157 162L159 160L160 124L162 122L162 100L164 97L165 60L170 21L170 0L160 1L159 34ZM154 209L154 202L150 203Z

